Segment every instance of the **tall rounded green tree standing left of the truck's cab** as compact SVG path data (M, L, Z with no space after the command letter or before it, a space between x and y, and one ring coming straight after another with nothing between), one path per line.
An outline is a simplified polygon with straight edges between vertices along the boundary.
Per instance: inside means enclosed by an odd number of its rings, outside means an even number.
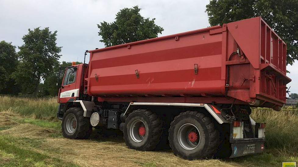
M52 33L48 27L28 31L19 47L20 64L13 77L21 85L22 93L37 94L41 79L51 76L53 67L58 66L62 47L56 46L57 31Z

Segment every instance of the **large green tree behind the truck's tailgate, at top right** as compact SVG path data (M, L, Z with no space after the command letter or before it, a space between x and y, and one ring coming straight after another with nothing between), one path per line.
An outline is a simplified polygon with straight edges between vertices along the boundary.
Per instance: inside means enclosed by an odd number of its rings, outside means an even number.
M206 8L211 26L261 16L287 43L287 64L298 60L297 0L211 0Z

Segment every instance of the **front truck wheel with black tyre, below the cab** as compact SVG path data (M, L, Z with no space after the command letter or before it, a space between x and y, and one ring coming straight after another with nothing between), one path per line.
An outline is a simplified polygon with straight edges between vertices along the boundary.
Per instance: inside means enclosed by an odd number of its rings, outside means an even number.
M61 125L62 134L65 138L87 139L92 133L89 118L83 116L81 107L72 107L66 110Z

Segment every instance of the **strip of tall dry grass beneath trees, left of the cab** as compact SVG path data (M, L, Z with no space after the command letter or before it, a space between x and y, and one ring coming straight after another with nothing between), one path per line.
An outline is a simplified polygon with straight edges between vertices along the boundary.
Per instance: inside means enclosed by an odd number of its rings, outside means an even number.
M57 98L0 96L0 112L12 110L20 115L41 120L57 120Z

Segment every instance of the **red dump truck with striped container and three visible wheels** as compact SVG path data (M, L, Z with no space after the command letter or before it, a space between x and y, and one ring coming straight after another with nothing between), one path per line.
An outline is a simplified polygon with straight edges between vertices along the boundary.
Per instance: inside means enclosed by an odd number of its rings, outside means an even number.
M286 43L261 17L88 51L65 70L64 137L123 131L128 148L169 145L186 159L264 151L251 107L286 102Z

